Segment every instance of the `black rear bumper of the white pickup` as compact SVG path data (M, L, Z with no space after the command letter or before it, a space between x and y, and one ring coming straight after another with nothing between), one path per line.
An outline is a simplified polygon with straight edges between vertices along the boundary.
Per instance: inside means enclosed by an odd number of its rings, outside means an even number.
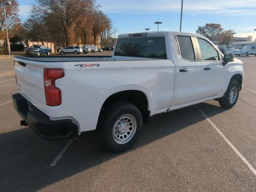
M12 95L14 108L22 117L21 125L28 125L39 136L48 140L74 138L78 128L71 119L50 120L49 116L30 104L21 94Z

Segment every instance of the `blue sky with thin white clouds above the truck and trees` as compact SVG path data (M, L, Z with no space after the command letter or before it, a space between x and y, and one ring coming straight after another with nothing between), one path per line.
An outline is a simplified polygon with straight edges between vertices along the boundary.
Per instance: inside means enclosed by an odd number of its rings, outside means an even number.
M181 0L97 0L101 10L112 19L116 34L156 31L155 21L162 21L159 30L179 30ZM18 0L20 17L29 15L33 0ZM196 32L206 23L220 23L234 29L234 36L256 38L256 0L184 0L182 31Z

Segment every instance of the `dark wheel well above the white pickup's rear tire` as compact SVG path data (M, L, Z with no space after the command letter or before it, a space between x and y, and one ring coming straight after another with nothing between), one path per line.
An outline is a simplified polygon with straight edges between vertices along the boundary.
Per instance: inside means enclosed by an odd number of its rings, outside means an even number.
M112 103L120 101L134 104L140 110L143 122L148 122L150 114L150 111L148 111L148 100L146 95L138 90L126 90L112 94L105 100L104 104L102 105L100 115L102 114L104 108L108 107Z

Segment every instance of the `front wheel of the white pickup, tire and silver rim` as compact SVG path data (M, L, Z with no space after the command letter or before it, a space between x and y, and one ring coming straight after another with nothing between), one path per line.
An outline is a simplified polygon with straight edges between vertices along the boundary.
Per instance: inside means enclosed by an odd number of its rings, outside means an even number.
M231 80L226 90L226 93L219 100L220 106L226 109L234 107L238 100L239 91L240 88L238 82L236 80Z

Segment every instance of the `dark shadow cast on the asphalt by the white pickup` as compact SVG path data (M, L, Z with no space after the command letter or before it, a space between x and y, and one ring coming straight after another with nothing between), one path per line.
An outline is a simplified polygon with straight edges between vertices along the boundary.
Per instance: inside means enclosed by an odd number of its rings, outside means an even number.
M209 118L225 111L217 105L208 103L201 103L197 106L202 110L207 109ZM54 167L50 164L68 140L43 140L28 127L0 134L0 191L42 190L62 180L65 180L65 183L69 183L70 180L84 182L86 188L90 188L93 182L88 184L88 181L95 179L97 166L100 164L118 156L131 155L134 150L142 146L203 120L205 120L204 116L195 106L152 116L150 122L144 124L136 144L130 150L120 154L99 149L95 145L97 142L94 139L95 132L84 133L77 142L70 145ZM96 167L95 170L90 169L93 167ZM83 173L85 170L89 173ZM90 172L93 173L90 174ZM76 176L79 174L82 176ZM75 180L71 176L74 176ZM66 187L67 190L68 186ZM83 190L86 191L85 188ZM70 191L73 190L70 189Z

